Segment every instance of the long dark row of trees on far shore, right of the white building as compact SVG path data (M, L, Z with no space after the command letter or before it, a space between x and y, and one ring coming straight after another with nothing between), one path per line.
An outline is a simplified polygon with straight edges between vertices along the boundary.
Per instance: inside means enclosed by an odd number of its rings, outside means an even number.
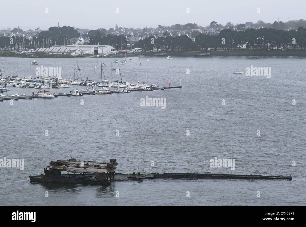
M273 28L247 29L233 31L224 29L218 35L201 33L196 36L195 42L187 35L172 37L162 36L155 38L149 36L139 40L139 47L144 51L187 51L201 50L246 50L273 51L273 50L306 50L306 28L299 27L297 31L285 31Z

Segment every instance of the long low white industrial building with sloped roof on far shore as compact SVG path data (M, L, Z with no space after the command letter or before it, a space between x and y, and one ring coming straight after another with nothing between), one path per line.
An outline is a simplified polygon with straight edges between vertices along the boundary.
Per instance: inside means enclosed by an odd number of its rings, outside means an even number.
M79 56L88 54L102 54L115 50L116 49L114 47L108 45L69 45L37 48L35 53L69 54Z

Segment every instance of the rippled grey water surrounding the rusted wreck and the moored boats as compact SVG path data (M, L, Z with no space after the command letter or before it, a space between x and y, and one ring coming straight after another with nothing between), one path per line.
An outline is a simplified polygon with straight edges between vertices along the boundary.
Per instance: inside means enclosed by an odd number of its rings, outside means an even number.
M18 100L13 105L0 102L0 158L25 159L24 170L0 168L0 205L306 205L305 58L238 58L238 70L271 67L270 79L233 75L235 57L150 59L141 58L142 66L138 58L124 65L123 80L133 82L134 67L135 81L175 86L181 77L183 88ZM7 75L25 76L27 69L27 76L36 77L30 61L2 58ZM40 66L64 67L62 77L73 78L76 59L37 61ZM116 77L110 71L111 61L104 58L107 80ZM100 69L94 68L96 59L78 59L78 63L83 79L101 80ZM9 95L32 91L11 87ZM146 95L166 98L166 108L140 106ZM146 180L108 187L30 183L29 175L39 175L50 160L69 155L78 160L116 158L118 173L291 174L293 178ZM235 159L235 170L210 168L209 160L215 157Z

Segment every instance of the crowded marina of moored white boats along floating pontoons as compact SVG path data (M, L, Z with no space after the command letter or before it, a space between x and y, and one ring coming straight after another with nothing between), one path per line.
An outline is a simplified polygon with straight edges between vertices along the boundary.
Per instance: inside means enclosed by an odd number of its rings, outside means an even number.
M139 52L140 53L140 52ZM121 52L122 55L122 52ZM139 57L140 58L140 57ZM121 56L122 59L122 56ZM45 59L41 59L43 61ZM96 57L96 61L98 61L98 58ZM23 99L32 99L32 98L43 98L43 99L53 99L63 96L83 96L83 95L95 95L95 94L123 94L123 93L131 93L131 91L153 91L153 90L164 90L164 89L171 89L171 88L182 88L181 85L181 78L176 78L176 81L178 81L177 84L179 86L173 86L171 85L171 82L168 82L167 84L164 84L163 86L159 86L155 83L152 83L151 85L147 85L145 82L141 83L140 79L136 79L135 81L135 66L129 64L128 66L125 66L125 62L123 64L119 65L116 69L116 72L113 73L113 68L108 68L106 65L111 65L109 63L113 63L112 59L107 59L103 61L111 61L106 62L107 64L102 64L101 67L98 67L99 69L95 69L95 73L98 73L100 71L100 79L97 79L96 76L93 76L93 79L89 79L88 76L86 76L86 80L82 79L81 74L81 68L79 66L78 62L71 62L73 76L70 74L67 78L66 70L68 66L65 66L66 63L61 63L61 65L64 65L64 67L60 67L59 71L63 71L63 75L59 75L56 77L48 76L48 74L40 75L38 77L28 76L27 72L30 69L31 71L31 65L26 67L26 75L25 76L9 76L6 73L0 73L2 76L0 78L0 99L1 100L9 100L11 98L14 98L17 100L18 98L21 99L21 97L24 97ZM71 65L70 63L70 65ZM45 64L45 63L42 63ZM41 68L39 69L39 73L44 72L44 69L55 69L55 67L43 67L41 64ZM54 66L56 63L54 64ZM96 65L99 65L96 63ZM154 63L153 63L154 65ZM144 67L147 67L149 65L144 65ZM30 68L29 68L30 67ZM0 67L1 68L1 67ZM29 68L29 69L28 69ZM5 68L3 67L3 71ZM49 69L49 71L50 71ZM92 68L88 68L83 66L83 73L87 73L92 71ZM124 78L127 77L126 70L129 69L132 72L133 78L132 83L124 81ZM57 69L58 70L58 69ZM139 69L136 68L136 72ZM6 72L10 72L10 70L6 69ZM52 72L52 71L51 71ZM58 71L57 71L58 72ZM68 73L68 72L67 72ZM37 76L37 72L36 72ZM64 77L64 78L62 78ZM84 77L84 76L83 76ZM106 77L110 78L110 80L106 80ZM104 80L103 80L104 79ZM100 82L99 82L100 80ZM119 82L120 81L120 82ZM131 81L131 80L130 80ZM175 81L174 81L175 83ZM84 87L84 88L82 88ZM100 88L101 87L101 88ZM17 88L17 89L16 89ZM33 89L34 88L34 89ZM21 91L26 90L25 93L21 93ZM56 92L57 90L65 90L65 92ZM69 92L67 92L69 89ZM15 93L15 95L11 95L11 93ZM26 94L27 93L27 94ZM29 95L31 94L32 95Z

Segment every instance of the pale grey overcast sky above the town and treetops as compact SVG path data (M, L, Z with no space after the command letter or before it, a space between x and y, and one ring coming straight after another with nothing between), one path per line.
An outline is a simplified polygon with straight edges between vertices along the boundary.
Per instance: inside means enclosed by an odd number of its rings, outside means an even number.
M273 23L278 17L283 22L288 17L306 19L305 9L306 0L0 0L0 28L48 29L58 23L88 29L114 28L116 23L133 28L177 23L207 26L211 21Z

